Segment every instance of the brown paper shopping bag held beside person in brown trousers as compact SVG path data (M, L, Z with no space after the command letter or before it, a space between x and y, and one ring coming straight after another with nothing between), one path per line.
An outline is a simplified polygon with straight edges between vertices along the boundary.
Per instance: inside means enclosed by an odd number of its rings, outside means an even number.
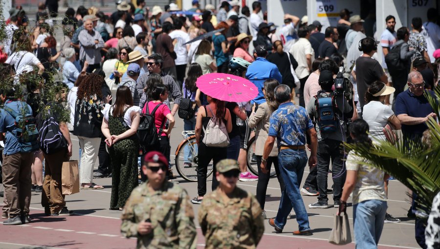
M70 160L63 163L61 169L61 186L63 194L79 193L78 161Z

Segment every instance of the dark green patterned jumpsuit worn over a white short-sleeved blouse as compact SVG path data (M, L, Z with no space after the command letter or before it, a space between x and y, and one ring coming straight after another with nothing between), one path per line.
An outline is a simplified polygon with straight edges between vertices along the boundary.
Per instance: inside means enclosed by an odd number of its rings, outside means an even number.
M127 109L124 110L124 114ZM124 122L123 118L113 117L110 113L109 128L111 135L120 135L129 129L128 126L122 124ZM110 209L118 209L125 206L132 190L138 186L137 157L139 154L139 140L136 134L119 140L110 146L109 153L112 166Z

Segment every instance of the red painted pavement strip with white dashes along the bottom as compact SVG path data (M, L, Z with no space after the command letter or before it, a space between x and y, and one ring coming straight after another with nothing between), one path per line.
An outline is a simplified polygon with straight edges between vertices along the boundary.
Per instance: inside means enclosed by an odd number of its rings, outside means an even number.
M31 223L27 224L28 226L0 225L0 242L63 249L127 249L136 246L136 239L121 238L119 230L121 221L119 219L87 215L44 217L42 211L32 211L31 218ZM199 228L197 230L198 248L204 248L204 237L201 230ZM78 232L93 232L94 234ZM6 246L6 244L3 244L3 246ZM264 234L258 248L349 249L354 248L354 244L334 246L326 240L294 237L291 233L273 233ZM392 249L393 247L379 248Z

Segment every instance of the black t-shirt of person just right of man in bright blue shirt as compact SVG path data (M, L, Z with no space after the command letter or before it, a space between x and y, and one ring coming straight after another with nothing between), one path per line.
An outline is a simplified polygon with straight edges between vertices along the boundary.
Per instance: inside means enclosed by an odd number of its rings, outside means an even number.
M298 67L298 62L296 62L295 58L293 58L290 53L288 54L290 57L290 62L292 62L293 69L296 69ZM290 71L290 63L289 59L287 58L287 53L283 53L281 55L279 53L272 53L266 57L266 60L277 65L278 70L283 76L283 82L280 83L288 85L290 89L296 86L295 79Z

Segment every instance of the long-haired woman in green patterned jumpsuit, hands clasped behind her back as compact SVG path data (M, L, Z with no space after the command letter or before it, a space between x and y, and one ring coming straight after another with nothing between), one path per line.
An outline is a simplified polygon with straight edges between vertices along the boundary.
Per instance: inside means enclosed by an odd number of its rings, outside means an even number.
M101 130L106 137L112 168L110 210L122 209L138 185L139 139L136 132L140 112L140 107L133 106L132 92L127 86L120 86L115 104L106 104L103 110Z

